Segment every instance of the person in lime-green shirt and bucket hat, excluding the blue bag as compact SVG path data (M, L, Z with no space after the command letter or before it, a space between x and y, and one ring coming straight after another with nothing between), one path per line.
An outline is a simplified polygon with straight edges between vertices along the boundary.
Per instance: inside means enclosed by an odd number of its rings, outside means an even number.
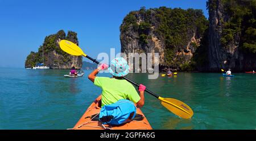
M113 78L96 76L100 70L106 69L113 75ZM117 57L111 61L110 68L108 68L108 65L106 64L101 64L89 74L89 80L102 89L102 107L104 105L115 103L121 99L129 99L136 103L137 107L142 107L144 105L144 90L146 89L146 86L142 84L139 85L138 94L134 86L122 78L122 76L126 76L128 73L129 65L127 64L127 61L122 57Z

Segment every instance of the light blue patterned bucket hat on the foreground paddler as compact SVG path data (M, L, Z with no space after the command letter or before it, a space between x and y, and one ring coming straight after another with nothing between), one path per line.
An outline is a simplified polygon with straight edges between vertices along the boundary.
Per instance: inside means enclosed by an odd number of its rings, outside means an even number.
M129 65L123 57L117 57L110 62L109 73L121 77L129 73Z

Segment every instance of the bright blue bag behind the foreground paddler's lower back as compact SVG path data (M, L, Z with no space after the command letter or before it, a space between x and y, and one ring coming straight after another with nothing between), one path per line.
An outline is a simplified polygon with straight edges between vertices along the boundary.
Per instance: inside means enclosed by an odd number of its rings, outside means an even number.
M121 99L113 104L103 106L99 118L103 124L121 125L130 122L135 115L134 103L127 99Z

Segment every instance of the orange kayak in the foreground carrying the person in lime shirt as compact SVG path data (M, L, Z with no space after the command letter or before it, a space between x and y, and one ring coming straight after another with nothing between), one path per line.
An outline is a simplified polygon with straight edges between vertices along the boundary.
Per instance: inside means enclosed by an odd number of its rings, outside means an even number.
M137 108L137 113L133 121L124 123L122 125L102 125L98 121L98 115L100 115L101 107L101 96L95 99L95 101L88 107L84 115L76 123L76 125L71 128L75 130L151 130L152 127L148 123L146 117L142 113L141 109Z

